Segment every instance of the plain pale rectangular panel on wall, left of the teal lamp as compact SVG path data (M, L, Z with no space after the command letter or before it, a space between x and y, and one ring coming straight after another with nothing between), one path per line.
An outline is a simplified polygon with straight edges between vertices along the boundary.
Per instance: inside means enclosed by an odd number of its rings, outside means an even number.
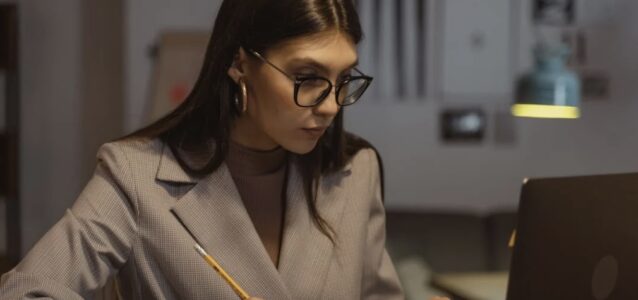
M511 5L511 0L437 2L441 96L493 98L510 94Z

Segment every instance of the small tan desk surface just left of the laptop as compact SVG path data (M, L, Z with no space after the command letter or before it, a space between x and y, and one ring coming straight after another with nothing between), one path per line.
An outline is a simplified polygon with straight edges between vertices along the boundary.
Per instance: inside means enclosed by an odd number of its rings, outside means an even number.
M445 273L432 277L432 285L467 300L504 300L507 272Z

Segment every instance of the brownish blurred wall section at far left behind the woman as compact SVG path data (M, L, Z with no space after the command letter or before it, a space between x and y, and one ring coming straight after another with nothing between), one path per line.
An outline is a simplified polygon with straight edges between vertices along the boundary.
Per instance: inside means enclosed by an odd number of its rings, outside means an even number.
M114 0L14 3L25 252L73 203L95 167L97 147L124 132L123 10Z

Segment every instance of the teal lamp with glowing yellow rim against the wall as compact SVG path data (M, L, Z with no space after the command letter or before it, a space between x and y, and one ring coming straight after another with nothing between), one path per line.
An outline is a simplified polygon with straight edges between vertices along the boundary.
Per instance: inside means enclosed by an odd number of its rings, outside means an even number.
M516 89L512 114L517 117L577 119L580 117L580 80L566 67L565 45L540 45L536 66Z

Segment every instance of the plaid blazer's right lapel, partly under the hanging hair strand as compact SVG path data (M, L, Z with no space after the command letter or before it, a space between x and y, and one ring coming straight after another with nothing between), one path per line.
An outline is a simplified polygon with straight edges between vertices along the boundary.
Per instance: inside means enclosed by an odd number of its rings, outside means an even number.
M340 226L346 202L340 180L345 171L320 181L317 208L333 229ZM279 272L294 299L320 297L333 259L334 246L317 229L306 203L303 181L295 164L289 170L285 227L279 260ZM338 237L337 237L338 238Z

